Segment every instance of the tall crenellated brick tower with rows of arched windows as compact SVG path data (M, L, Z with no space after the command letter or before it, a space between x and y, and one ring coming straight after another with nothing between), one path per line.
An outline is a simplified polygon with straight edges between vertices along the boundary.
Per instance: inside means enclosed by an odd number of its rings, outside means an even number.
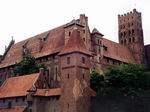
M133 9L130 13L118 15L119 43L128 47L136 63L144 63L144 42L141 13Z

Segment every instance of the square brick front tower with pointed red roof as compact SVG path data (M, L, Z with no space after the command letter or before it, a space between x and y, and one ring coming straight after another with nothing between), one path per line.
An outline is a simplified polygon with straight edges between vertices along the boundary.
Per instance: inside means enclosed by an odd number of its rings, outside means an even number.
M77 27L60 52L62 112L90 112L90 52Z

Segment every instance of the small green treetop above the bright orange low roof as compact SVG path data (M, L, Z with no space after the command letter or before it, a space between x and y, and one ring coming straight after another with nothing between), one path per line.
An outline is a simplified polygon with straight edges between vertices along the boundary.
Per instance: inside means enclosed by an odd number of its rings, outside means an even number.
M16 65L13 76L36 73L40 68L45 68L45 66L37 64L34 57L26 56Z

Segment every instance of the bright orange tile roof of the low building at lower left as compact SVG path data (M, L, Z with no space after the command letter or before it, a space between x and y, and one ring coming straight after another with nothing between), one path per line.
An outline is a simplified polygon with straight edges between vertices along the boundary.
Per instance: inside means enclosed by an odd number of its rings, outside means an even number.
M0 87L0 98L26 96L38 77L39 73L8 78Z

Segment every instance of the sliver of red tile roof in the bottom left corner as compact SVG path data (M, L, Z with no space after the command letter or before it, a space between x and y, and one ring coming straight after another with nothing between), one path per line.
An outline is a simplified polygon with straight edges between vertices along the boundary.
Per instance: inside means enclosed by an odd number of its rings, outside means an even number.
M16 106L12 108L0 108L0 112L25 112L26 107Z

